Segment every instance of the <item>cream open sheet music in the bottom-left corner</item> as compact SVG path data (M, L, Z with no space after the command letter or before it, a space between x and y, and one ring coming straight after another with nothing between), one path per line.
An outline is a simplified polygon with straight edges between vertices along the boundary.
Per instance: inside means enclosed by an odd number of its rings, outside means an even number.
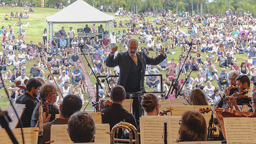
M23 128L22 130L23 130L25 144L37 144L38 131L35 132L35 130L38 130L38 127L27 127L27 128ZM12 129L12 133L15 135L19 144L22 144L22 133L20 128ZM10 139L9 136L7 138L6 144L12 144L12 140Z

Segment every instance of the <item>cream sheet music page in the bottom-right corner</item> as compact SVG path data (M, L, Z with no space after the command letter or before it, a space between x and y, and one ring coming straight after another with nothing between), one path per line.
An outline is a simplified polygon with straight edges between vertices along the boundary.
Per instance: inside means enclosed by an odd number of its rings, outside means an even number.
M227 144L255 142L251 118L223 118Z

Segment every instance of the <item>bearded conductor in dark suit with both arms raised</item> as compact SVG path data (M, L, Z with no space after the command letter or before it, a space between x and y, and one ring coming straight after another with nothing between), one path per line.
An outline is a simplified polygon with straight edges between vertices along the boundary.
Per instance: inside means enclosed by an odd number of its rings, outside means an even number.
M131 38L128 41L128 50L125 53L118 53L114 58L114 53L117 51L117 47L113 47L109 57L106 60L106 66L116 67L119 65L119 79L117 84L125 88L126 93L134 93L140 91L141 70L142 70L142 55L143 55L143 68L146 69L146 65L158 65L165 58L164 48L161 47L159 53L161 55L156 58L150 58L145 53L138 52L139 42L135 38ZM138 97L133 98L133 115L136 120L139 120L139 100Z

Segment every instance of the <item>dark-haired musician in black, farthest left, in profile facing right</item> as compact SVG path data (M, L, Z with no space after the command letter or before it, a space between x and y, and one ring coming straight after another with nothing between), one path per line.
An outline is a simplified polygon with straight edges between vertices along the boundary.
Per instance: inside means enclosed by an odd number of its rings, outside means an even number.
M30 127L31 126L31 116L36 107L36 103L34 97L39 94L40 88L43 83L36 78L31 78L27 82L27 92L24 95L20 96L16 103L25 104L26 108L24 113L22 114L21 120L23 123L23 127ZM20 128L20 123L18 124L17 128Z

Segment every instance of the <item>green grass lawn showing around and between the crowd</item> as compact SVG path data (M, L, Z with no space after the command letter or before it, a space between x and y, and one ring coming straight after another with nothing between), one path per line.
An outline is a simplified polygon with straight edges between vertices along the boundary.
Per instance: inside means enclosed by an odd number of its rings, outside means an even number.
M5 21L3 19L3 16L5 15L5 13L7 13L9 16L10 16L10 13L11 12L23 12L24 10L24 7L1 7L0 8L0 16L1 16L1 19L0 19L0 26L5 26L5 28L8 28L10 24L14 24L17 22L18 19L12 19L11 21ZM46 28L46 17L47 16L51 16L52 14L55 14L56 12L60 11L60 10L57 10L57 9L53 9L53 8L41 8L41 7L36 7L36 8L33 8L34 12L33 14L29 14L29 19L22 19L23 21L23 24L27 24L27 22L30 22L30 26L31 27L23 27L23 29L25 30L26 32L26 42L27 43L30 43L30 41L33 41L34 44L38 44L38 42L40 41L41 43L43 43L43 35L42 35L42 32L43 30ZM114 13L107 13L107 14L110 14L110 15L113 15L114 16ZM83 17L84 14L81 14L81 17ZM118 19L118 17L115 17L116 19L116 22L119 23L120 20L125 21L128 20L129 18L125 18L125 19ZM154 18L153 17L145 17L145 19L149 19L150 21L152 21ZM172 24L172 23L171 23ZM92 29L92 25L93 24L88 24L88 26ZM96 27L99 26L100 24L96 24ZM201 24L198 24L198 25L201 25ZM65 27L65 31L68 32L69 31L69 27L72 26L73 29L76 31L76 29L80 29L80 28L84 28L85 27L85 24L54 24L53 25L53 32L57 32L58 30L61 29L61 27L64 26ZM105 26L105 24L103 24L103 26ZM161 25L156 25L158 27L160 27ZM19 26L12 26L13 29L14 29L14 33L17 33L18 29L19 29ZM105 29L105 28L104 28ZM128 29L128 28L115 28L114 31L117 32L117 31L123 31L123 29ZM185 31L185 32L188 32L188 29L187 27L181 27L181 31ZM77 36L77 34L76 34ZM189 36L189 35L188 35ZM17 38L17 35L15 35L15 37ZM138 35L133 35L134 38L138 38L139 36ZM156 40L156 36L154 36L154 39ZM169 43L170 40L167 40L167 42ZM165 46L164 43L162 43L163 46ZM119 46L117 44L117 46ZM146 44L139 44L139 48L142 47L142 46L147 46ZM125 48L123 48L121 46L121 49L125 50ZM2 49L0 49L2 51ZM170 50L170 52L176 52L174 55L167 55L167 58L168 60L171 60L171 58L174 58L175 62L178 63L178 60L179 60L179 55L181 54L181 47L176 47L175 50ZM206 59L205 59L205 53L201 53L201 56L202 56L202 61L204 62ZM17 55L18 53L16 53ZM152 55L155 55L155 52L152 52L150 51L150 56ZM186 55L186 54L185 54ZM196 53L191 53L191 55L193 57L196 56ZM241 62L244 62L244 59L246 59L246 54L244 55L235 55L237 57L237 61L238 61L238 65L240 66ZM87 56L86 57L88 59L90 59L91 57L90 56ZM58 56L59 58L59 56ZM82 57L84 62L85 62L85 66L87 68L87 72L89 73L90 72L90 69L89 67L87 66L87 63L86 63L86 60L84 57ZM30 71L30 68L33 67L34 63L38 64L38 61L37 61L38 58L36 58L35 60L33 61L27 61L26 64L24 64L25 67L27 67L26 69L26 76L29 77L29 71ZM90 60L89 60L90 61ZM215 59L214 59L215 61ZM216 65L216 69L218 70L218 72L221 72L221 68L217 65L218 62L214 62L214 64ZM92 63L91 63L92 65ZM201 65L199 65L199 68L201 67ZM7 69L10 69L12 71L12 68L13 66L10 66L8 67L7 66ZM156 67L155 67L156 68ZM113 72L114 68L111 68L111 71ZM227 69L226 72L229 72L229 68ZM13 72L13 71L12 71ZM45 72L45 77L47 78L48 74L49 74L49 71L48 70L44 70ZM167 72L163 72L161 71L160 74L163 75L163 77L165 78L165 74ZM191 73L191 77L193 77L194 79L196 78L196 75L197 75L197 72L196 71L193 71ZM59 74L55 74L55 76L58 78L59 77ZM89 76L91 81L92 81L92 85L94 86L94 84L96 83L96 79L93 75L90 75ZM179 79L182 79L182 78L185 78L185 74L184 76L181 76L179 77ZM5 82L5 86L7 88L10 87L10 85L12 85L13 83L8 83L8 81ZM106 82L104 83L105 85ZM214 81L212 81L212 85L215 86L215 87L218 87L217 85L217 80L215 79ZM206 84L204 83L204 86L206 86ZM252 84L251 84L251 87L252 87ZM151 88L146 88L146 83L145 83L145 89L146 91L153 91L155 90L154 89L151 89ZM0 96L3 95L4 97L2 98L2 101L0 102L0 107L2 109L5 109L7 108L8 104L9 103L6 103L7 101L7 96L5 94L5 90L4 89L0 89ZM106 97L107 98L107 97ZM85 94L85 100L88 100L88 96L87 94ZM85 103L86 105L86 103ZM84 106L85 106L84 105ZM83 108L84 108L83 106ZM82 109L83 109L82 108ZM87 107L87 110L92 110L92 106L91 105L88 105Z

